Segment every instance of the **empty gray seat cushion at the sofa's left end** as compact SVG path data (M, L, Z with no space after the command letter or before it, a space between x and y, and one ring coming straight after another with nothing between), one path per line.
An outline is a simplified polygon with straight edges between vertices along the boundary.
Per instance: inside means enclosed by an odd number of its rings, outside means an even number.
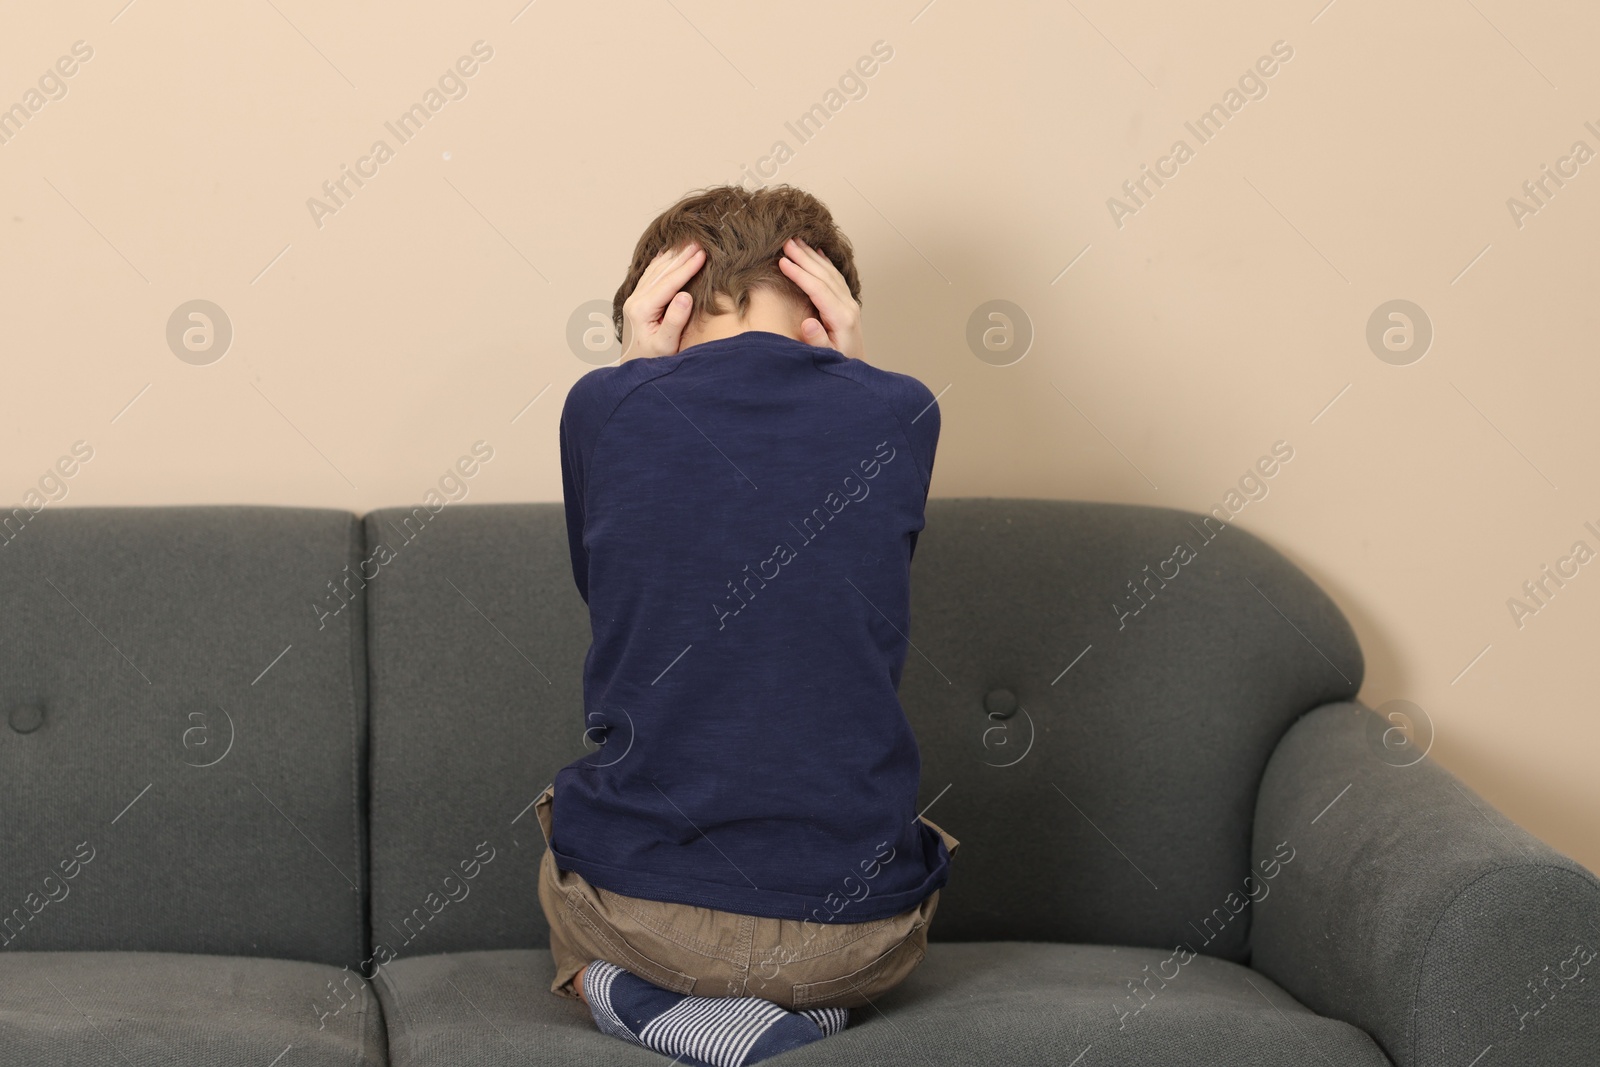
M386 1062L378 998L360 976L323 963L3 952L0 990L0 1067Z

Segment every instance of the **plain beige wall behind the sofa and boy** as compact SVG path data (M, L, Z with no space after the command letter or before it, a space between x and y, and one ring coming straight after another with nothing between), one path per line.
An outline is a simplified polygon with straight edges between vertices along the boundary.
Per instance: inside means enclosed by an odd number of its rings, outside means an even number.
M570 317L656 211L784 141L774 181L859 250L869 358L942 395L934 496L1203 510L1288 442L1237 522L1350 616L1363 699L1426 709L1438 760L1600 869L1600 563L1520 627L1507 608L1600 549L1600 162L1507 206L1600 149L1594 10L123 2L0 11L0 104L93 50L0 144L8 506L75 442L51 507L366 510L478 440L467 499L560 499L590 366ZM475 42L466 94L402 144L384 123ZM875 42L866 94L802 144L784 123ZM1184 123L1275 42L1266 96L1202 142ZM392 158L309 210L376 139ZM1107 200L1178 139L1118 224ZM192 299L234 328L208 365L165 336ZM1035 331L1008 366L965 339L990 299ZM1408 365L1365 338L1392 299L1437 331Z

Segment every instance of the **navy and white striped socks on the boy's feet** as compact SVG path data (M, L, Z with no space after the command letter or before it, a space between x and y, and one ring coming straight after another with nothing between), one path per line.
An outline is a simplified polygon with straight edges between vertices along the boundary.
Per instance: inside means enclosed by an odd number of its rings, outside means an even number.
M690 1067L747 1067L843 1029L846 1008L784 1011L757 997L686 997L651 985L614 963L584 971L595 1025Z

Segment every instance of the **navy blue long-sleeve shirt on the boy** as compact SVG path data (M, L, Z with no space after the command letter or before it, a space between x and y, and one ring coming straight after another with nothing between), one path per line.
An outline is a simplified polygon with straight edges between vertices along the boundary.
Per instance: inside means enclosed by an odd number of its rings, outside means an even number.
M573 386L562 486L594 745L555 776L563 870L838 923L946 883L898 696L938 442L915 378L766 331Z

